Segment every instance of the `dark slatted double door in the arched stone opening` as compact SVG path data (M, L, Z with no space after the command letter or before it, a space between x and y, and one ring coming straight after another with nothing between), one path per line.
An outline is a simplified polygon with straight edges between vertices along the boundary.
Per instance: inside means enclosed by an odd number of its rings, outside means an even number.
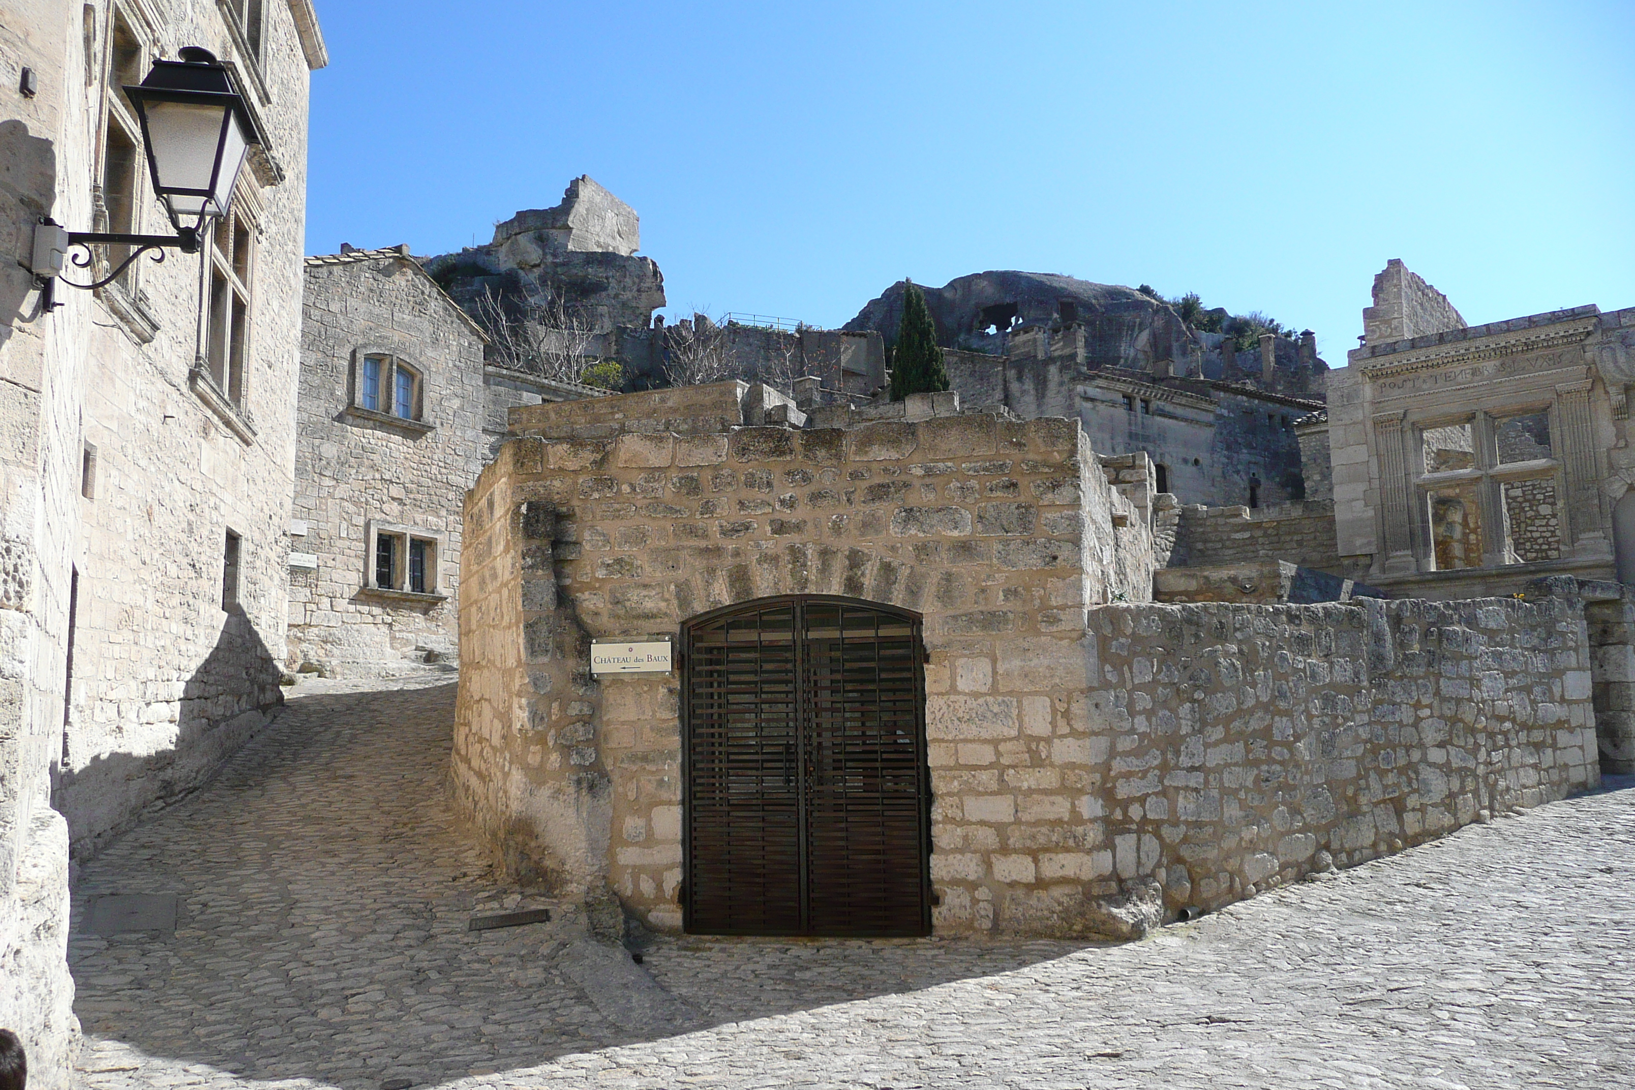
M914 614L773 598L683 632L688 931L930 930Z

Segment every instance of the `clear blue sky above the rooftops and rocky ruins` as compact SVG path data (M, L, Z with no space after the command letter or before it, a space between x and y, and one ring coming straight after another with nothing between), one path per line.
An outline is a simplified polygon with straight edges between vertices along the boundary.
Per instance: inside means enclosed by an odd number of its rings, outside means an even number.
M307 252L487 242L580 173L672 314L1149 283L1311 327L1635 306L1635 3L319 0Z

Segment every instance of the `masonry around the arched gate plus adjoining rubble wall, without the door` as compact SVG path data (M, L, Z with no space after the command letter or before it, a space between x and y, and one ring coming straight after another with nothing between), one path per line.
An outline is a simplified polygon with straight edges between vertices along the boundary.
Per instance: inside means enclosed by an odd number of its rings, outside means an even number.
M1153 605L1144 471L1077 422L688 423L734 387L517 410L468 497L451 775L525 881L680 927L680 678L587 644L785 593L924 618L938 933L1218 907L1597 781L1575 598Z

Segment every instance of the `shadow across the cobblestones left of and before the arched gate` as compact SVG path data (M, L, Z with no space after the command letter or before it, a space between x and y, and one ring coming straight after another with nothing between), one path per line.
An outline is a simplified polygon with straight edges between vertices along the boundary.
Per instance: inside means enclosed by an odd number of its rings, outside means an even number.
M203 791L88 863L70 958L98 1062L129 1064L108 1049L131 1048L154 1057L144 1065L208 1064L345 1090L428 1085L1091 946L659 938L643 967L602 949L603 966L615 956L625 969L587 979L571 910L468 930L474 910L515 907L507 896L523 891L495 884L450 802L453 719L446 683L298 690ZM177 894L177 930L85 933L85 905L113 892Z

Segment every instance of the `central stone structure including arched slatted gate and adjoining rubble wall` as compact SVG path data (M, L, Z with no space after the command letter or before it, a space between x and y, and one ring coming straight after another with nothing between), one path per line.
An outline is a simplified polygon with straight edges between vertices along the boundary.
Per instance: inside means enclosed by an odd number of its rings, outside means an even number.
M512 874L665 930L1130 935L1597 783L1576 580L1153 603L1151 462L958 402L512 410L453 757Z

